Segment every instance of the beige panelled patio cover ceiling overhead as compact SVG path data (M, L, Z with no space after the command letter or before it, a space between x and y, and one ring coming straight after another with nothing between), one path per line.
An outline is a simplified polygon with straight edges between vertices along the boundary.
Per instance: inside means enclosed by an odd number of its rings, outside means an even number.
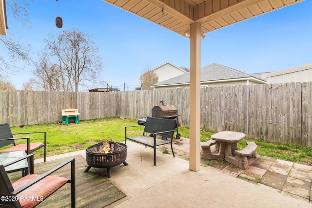
M185 36L198 22L201 34L302 0L103 0Z

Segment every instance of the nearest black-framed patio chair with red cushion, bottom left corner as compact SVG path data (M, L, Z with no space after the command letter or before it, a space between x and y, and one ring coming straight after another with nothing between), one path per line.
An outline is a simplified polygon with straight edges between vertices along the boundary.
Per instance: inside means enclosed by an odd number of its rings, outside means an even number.
M70 179L66 177L51 176L53 172L69 163L71 163ZM34 172L33 164L30 172ZM14 183L10 182L3 165L0 165L0 207L34 208L66 183L71 184L71 205L72 208L75 208L75 158L63 162L42 175L26 175Z

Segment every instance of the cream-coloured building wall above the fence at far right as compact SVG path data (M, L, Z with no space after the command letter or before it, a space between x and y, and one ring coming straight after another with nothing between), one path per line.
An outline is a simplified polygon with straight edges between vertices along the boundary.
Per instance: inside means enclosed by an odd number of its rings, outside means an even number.
M262 75L268 84L310 82L312 81L312 64L284 69Z

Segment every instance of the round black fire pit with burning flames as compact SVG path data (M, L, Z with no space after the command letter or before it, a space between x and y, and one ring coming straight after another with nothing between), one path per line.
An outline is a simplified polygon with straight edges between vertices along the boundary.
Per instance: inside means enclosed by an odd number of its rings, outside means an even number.
M106 168L107 177L112 177L111 167L115 167L123 163L125 166L128 163L125 161L127 157L127 145L114 141L103 141L92 145L86 149L88 167L84 172L88 172L91 167Z

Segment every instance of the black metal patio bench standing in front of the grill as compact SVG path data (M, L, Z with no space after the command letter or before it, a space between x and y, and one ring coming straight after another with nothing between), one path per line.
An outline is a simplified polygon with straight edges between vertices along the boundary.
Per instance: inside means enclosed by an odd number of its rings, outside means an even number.
M127 129L132 127L144 126L144 132L141 136L127 136ZM126 126L125 127L125 144L127 139L143 144L154 149L154 166L156 166L156 147L160 145L171 144L171 151L175 157L174 149L172 147L173 136L176 128L176 120L168 118L157 118L157 117L146 117L145 125ZM156 136L159 135L163 139L158 139ZM170 141L164 138L170 138Z

